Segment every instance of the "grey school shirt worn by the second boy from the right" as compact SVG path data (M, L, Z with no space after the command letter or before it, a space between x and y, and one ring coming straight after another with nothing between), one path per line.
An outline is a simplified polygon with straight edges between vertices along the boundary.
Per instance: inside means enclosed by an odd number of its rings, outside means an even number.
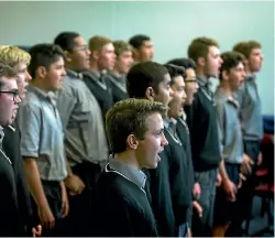
M239 121L239 102L226 95L220 87L215 94L220 151L227 163L242 163L243 141Z

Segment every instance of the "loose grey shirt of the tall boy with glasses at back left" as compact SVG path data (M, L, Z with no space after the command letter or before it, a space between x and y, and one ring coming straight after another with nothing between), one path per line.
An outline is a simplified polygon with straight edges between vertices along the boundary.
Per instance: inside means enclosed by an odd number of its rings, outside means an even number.
M68 162L70 166L84 161L106 162L109 149L98 101L84 83L81 74L66 71L67 76L56 97Z

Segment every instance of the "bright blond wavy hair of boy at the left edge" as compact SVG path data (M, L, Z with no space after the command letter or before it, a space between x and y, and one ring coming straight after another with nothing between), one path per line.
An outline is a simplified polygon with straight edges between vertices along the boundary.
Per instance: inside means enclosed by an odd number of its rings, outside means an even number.
M31 55L12 45L0 45L0 62L10 67L16 67L20 63L25 63L26 65L30 64Z

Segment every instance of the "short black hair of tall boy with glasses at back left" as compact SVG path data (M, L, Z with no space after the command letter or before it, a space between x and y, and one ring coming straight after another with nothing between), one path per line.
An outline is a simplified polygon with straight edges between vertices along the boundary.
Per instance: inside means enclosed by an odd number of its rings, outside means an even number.
M73 51L76 46L75 39L80 36L77 32L62 32L55 40L54 44L57 44L62 47L63 51Z

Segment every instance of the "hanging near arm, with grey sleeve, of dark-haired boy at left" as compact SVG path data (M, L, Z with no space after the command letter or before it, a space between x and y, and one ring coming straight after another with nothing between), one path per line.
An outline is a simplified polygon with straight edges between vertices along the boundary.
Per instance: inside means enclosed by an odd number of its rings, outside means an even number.
M40 140L41 140L41 110L36 105L22 104L18 112L19 129L21 131L21 154L24 158L24 167L28 186L33 196L36 206L37 215L42 225L53 228L54 216L44 194L41 175L36 163L40 156Z

